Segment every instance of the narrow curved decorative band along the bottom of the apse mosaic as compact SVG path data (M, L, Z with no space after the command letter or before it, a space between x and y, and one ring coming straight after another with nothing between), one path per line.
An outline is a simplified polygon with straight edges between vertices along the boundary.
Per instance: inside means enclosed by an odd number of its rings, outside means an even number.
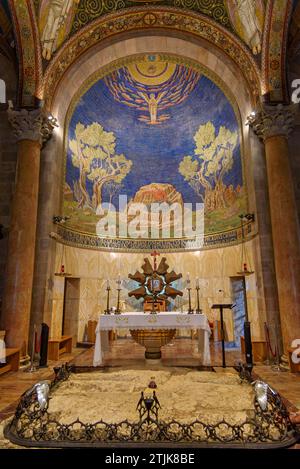
M254 238L254 225L248 222L243 225L244 239L246 241ZM79 231L71 230L65 226L58 225L57 234L52 236L56 241L85 249L100 251L119 252L149 252L154 249L162 252L202 251L220 247L240 244L243 241L241 228L214 233L204 236L204 245L200 245L192 238L186 239L116 239L100 238Z

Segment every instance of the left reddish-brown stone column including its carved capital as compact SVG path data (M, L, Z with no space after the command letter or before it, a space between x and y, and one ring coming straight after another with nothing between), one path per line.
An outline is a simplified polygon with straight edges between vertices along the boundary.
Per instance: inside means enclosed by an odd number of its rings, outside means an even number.
M42 109L9 109L8 118L17 139L17 172L8 240L1 326L6 345L27 354L37 223L37 202L42 143L55 120Z

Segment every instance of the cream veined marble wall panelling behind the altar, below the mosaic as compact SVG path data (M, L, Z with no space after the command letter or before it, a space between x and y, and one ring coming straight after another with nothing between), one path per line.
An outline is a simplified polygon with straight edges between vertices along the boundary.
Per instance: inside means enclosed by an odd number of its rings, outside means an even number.
M248 268L255 270L253 256L254 240L245 243ZM61 262L61 252L64 250L65 270L74 278L80 279L79 289L79 315L78 315L78 340L83 340L85 327L89 320L95 320L106 308L106 282L109 280L111 290L111 306L116 306L116 280L120 273L122 280L128 280L129 273L135 273L141 268L143 260L149 255L144 253L108 253L93 250L84 250L75 247L57 245L56 265ZM194 287L195 279L200 279L200 306L208 318L212 321L219 319L219 313L212 310L214 303L231 302L231 280L241 270L241 246L204 250L200 252L168 253L164 254L170 270L183 274L179 288L184 289L183 309L187 308L188 296L185 290L186 275L189 272ZM63 284L61 277L54 276L53 287L53 311L51 335L60 330L57 324L62 318L61 298ZM246 277L247 301L249 318L252 324L252 335L255 339L263 339L264 311L260 311L258 305L262 299L259 297L256 284L256 274ZM123 310L132 310L127 290L121 292ZM196 306L195 291L192 291L193 307ZM177 305L178 306L178 305ZM135 309L140 309L138 305ZM178 307L179 309L179 307ZM74 313L76 314L76 312ZM74 318L76 320L76 318ZM225 317L228 340L234 340L233 314L228 311Z

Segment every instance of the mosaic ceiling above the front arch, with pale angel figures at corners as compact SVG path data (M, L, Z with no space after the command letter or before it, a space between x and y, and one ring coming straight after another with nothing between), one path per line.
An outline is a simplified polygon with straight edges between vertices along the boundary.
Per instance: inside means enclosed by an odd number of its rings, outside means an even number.
M254 55L261 52L264 0L42 0L36 2L36 9L43 58L50 60L67 38L93 20L107 13L141 5L149 8L151 5L177 7L204 14L235 32Z

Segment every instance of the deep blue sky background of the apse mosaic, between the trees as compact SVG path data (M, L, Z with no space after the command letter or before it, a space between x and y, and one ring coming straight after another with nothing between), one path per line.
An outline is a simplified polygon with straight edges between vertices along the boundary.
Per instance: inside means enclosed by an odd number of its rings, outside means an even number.
M200 202L199 196L179 173L178 167L186 155L194 154L194 134L199 125L213 122L216 133L224 125L238 130L233 108L224 93L207 77L200 76L193 91L181 104L167 109L170 118L159 125L148 125L138 120L140 111L116 101L103 79L96 82L80 99L72 115L68 138L74 138L76 124L99 122L106 131L116 136L116 151L124 153L133 165L123 181L122 194L133 197L141 186L156 182L172 184L181 193L184 202ZM226 185L243 186L240 144L234 151L234 164L224 177ZM66 182L73 189L79 171L72 165L67 153ZM92 194L92 183L87 181ZM108 196L103 192L104 201ZM118 196L112 199L118 206Z

